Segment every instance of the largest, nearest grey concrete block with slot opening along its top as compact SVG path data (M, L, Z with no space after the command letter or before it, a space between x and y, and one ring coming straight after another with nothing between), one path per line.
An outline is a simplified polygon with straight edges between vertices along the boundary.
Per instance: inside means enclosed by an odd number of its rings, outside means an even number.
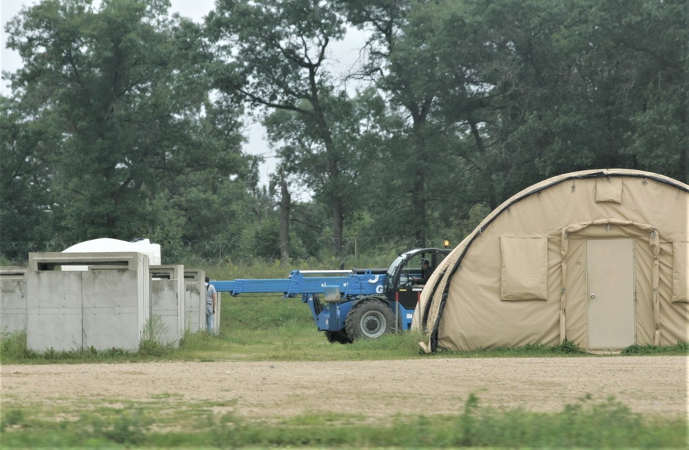
M90 270L63 272L63 265ZM30 253L25 279L28 349L138 350L150 317L145 254Z

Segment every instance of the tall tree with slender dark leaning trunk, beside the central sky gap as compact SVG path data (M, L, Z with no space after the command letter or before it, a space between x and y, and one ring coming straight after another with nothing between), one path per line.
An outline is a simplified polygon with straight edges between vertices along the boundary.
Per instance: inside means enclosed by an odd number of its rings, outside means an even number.
M259 110L298 114L309 139L318 142L327 174L327 204L333 221L333 249L341 251L347 196L339 190L342 145L333 136L326 98L335 92L327 70L329 43L345 34L344 17L329 3L309 0L219 0L207 17L220 64L218 88ZM337 97L337 95L334 95ZM317 168L314 167L314 170Z

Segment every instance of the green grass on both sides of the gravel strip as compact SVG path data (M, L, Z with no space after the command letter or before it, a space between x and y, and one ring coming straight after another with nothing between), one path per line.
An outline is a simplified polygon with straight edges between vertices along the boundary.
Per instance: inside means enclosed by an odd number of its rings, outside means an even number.
M279 268L263 274L214 274L217 279L280 278ZM227 270L227 269L225 269ZM239 296L223 298L220 333L186 336L178 349L165 348L154 340L142 342L138 352L46 352L26 350L25 334L5 334L0 340L0 361L8 364L190 361L323 361L382 360L407 358L502 358L533 356L587 358L575 345L532 345L520 349L496 349L466 353L421 355L413 333L389 335L351 345L330 344L316 330L309 307L300 298ZM630 347L625 354L688 354L685 344L670 348ZM4 395L4 394L3 394ZM440 417L409 417L391 411L389 424L372 424L356 415L304 414L278 423L251 422L231 413L214 416L213 402L189 405L194 414L162 413L168 398L152 402L81 405L78 411L39 411L36 405L2 408L0 447L77 448L686 448L686 420L641 417L625 405L608 399L593 402L582 398L559 413L522 410L497 411L482 407L471 396L461 411ZM52 420L44 417L48 414ZM60 417L65 419L61 420ZM67 417L70 417L67 419Z

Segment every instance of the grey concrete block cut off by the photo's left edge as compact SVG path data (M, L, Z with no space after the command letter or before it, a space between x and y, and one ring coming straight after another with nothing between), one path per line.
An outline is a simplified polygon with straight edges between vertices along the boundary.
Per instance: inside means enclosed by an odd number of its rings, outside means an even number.
M25 267L0 267L0 332L26 329Z

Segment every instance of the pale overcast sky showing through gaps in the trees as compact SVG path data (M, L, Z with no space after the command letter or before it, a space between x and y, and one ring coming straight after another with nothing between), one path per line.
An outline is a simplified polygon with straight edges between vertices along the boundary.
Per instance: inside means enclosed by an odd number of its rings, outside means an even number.
M5 33L6 23L12 19L12 17L19 14L19 11L23 6L32 6L40 3L39 0L0 0L1 9L0 17L2 19L2 70L3 72L14 72L21 67L21 58L16 52L12 52L6 48L7 36ZM96 3L96 1L94 1ZM196 22L203 21L203 18L212 10L215 6L215 0L170 0L172 4L171 12L178 12L183 17L188 17ZM333 43L333 54L331 55L338 65L341 66L340 70L347 70L353 65L358 59L359 49L362 47L364 41L363 34L353 30L347 34L347 39L342 43ZM10 95L10 89L8 88L6 80L3 80L0 85L0 91L3 95ZM245 152L251 154L258 154L265 157L266 162L261 167L261 183L267 184L268 176L273 172L276 161L274 161L274 156L268 147L268 143L265 141L265 131L263 127L259 124L249 125L245 132L245 136L249 139L248 143L245 144Z

